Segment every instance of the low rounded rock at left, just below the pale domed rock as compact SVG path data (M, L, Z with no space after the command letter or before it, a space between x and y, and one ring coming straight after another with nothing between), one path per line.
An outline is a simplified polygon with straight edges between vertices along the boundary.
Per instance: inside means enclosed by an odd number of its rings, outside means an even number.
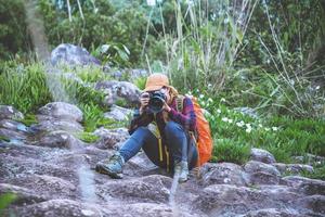
M82 145L82 142L66 131L57 130L44 135L34 144L49 148L77 149Z

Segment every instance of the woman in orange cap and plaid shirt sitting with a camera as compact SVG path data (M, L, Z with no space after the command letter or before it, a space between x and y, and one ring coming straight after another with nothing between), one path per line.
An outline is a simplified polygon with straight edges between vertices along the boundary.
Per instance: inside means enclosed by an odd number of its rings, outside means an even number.
M182 101L182 112L177 108L177 98L178 91L169 86L167 76L151 75L131 120L131 137L113 156L98 163L96 171L121 178L125 163L142 148L155 165L179 174L180 182L186 181L188 169L197 162L195 142L188 133L196 130L196 116L190 98Z

